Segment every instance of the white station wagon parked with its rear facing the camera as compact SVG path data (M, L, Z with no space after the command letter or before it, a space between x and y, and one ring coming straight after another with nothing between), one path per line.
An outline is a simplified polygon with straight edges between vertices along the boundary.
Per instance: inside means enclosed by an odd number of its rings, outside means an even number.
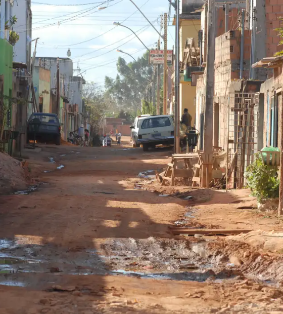
M174 120L172 115L137 116L131 128L133 147L143 145L144 151L156 145L174 144Z

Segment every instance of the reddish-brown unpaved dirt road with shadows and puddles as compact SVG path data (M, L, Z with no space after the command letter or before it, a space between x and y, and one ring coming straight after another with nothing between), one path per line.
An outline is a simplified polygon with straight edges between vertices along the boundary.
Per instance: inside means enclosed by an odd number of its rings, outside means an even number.
M169 154L125 145L29 153L36 189L0 197L1 314L283 312L280 255L173 238L168 227L192 204L135 184ZM247 202L212 193L194 192L204 213L195 212L195 227L219 226L223 206ZM242 226L229 210L230 227L256 229L264 220L245 220L242 211Z

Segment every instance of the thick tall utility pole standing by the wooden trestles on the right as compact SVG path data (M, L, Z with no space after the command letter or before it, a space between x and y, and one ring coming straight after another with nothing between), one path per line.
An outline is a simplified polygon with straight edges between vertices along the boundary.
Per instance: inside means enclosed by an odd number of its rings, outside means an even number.
M213 158L213 97L214 97L214 60L215 60L215 3L208 0L207 21L207 63L205 77L205 113L203 153L207 154L207 167L203 167L202 186L206 186L212 180L212 158ZM228 152L227 152L228 153ZM211 164L210 164L211 163ZM209 186L207 186L209 187Z

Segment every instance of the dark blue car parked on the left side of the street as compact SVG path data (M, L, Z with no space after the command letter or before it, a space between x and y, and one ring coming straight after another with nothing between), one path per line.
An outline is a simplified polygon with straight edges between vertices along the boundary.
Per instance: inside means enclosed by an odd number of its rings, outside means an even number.
M27 140L34 140L34 122L38 122L35 133L37 141L51 141L56 145L61 144L61 124L55 113L34 112L27 122Z

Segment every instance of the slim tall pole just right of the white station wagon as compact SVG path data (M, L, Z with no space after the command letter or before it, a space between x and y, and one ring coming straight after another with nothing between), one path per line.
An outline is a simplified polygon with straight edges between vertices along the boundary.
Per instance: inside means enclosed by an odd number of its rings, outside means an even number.
M174 108L174 115L175 115L175 141L174 141L174 151L175 153L180 152L180 37L179 37L179 30L180 30L180 4L179 0L176 0L176 52L175 52L175 108Z

